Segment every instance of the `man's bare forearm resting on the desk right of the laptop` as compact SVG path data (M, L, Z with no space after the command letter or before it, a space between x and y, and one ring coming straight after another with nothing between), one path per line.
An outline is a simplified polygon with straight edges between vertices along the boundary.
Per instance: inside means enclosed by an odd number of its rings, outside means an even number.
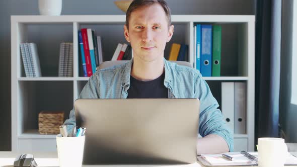
M203 138L197 139L197 154L215 154L228 152L229 147L224 138L216 135L209 134Z

